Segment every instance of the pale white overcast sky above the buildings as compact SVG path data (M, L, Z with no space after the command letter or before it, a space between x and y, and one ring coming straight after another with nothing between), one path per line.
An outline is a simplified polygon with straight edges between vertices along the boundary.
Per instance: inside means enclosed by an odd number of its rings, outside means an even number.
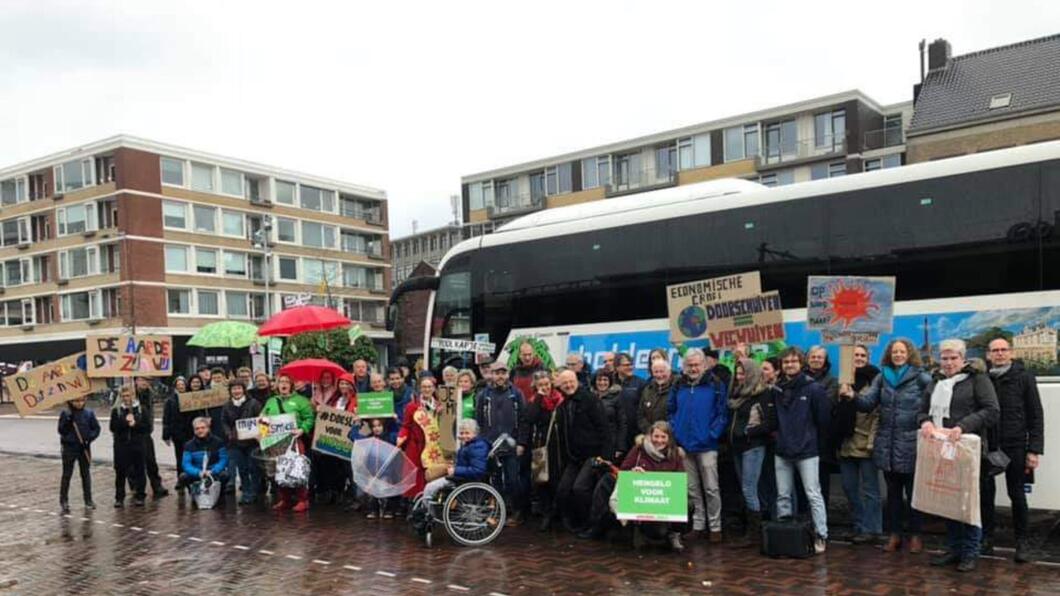
M391 235L460 176L859 88L917 42L1058 33L1060 2L0 4L0 165L118 133L382 188Z

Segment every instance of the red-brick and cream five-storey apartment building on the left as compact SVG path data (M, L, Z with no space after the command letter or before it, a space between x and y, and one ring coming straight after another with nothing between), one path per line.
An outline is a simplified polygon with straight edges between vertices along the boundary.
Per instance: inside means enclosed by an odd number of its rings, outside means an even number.
M129 136L0 170L0 362L135 329L184 369L201 326L306 295L382 347L390 276L377 189Z

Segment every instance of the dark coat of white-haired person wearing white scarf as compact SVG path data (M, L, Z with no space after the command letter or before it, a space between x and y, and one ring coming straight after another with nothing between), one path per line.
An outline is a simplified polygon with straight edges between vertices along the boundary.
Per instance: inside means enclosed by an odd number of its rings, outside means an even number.
M1001 418L1001 407L997 405L997 393L994 391L993 383L986 371L972 365L965 366L960 371L968 374L968 378L953 386L953 398L950 400L950 417L942 420L944 428L960 426L961 433L974 433L983 435L993 425L997 424ZM931 395L935 390L935 385L946 379L941 371L936 372L932 378L931 385L924 391L920 401L920 416L918 424L931 420ZM986 440L983 449L986 450Z

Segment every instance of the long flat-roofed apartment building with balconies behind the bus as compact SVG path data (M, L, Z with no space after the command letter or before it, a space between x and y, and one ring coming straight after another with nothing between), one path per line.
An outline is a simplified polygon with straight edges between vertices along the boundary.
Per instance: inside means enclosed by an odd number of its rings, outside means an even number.
M913 102L852 90L611 143L461 179L463 221L738 177L766 186L903 163Z

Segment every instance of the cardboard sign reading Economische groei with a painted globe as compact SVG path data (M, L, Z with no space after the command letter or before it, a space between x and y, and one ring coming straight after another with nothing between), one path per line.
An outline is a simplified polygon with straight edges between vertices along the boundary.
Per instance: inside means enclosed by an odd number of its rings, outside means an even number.
M750 298L761 293L762 282L758 271L668 285L670 340L678 343L705 337L707 304Z

